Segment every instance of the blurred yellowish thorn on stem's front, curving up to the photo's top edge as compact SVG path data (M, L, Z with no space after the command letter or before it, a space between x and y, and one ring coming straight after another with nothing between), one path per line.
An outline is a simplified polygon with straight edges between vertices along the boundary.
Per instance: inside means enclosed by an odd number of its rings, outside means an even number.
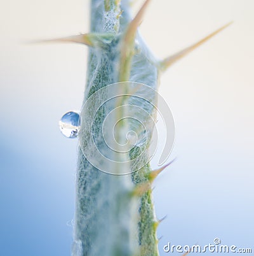
M138 26L141 24L145 10L147 9L150 0L146 0L143 6L138 11L137 15L131 20L128 28L123 36L121 45L121 57L119 64L119 82L126 82L130 78L131 60L134 55L134 42Z

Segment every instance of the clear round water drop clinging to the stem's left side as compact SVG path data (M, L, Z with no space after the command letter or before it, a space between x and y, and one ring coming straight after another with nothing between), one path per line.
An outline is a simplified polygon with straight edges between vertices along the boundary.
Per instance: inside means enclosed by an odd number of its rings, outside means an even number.
M79 131L79 113L76 111L65 113L59 121L59 127L65 137L70 139L77 138Z

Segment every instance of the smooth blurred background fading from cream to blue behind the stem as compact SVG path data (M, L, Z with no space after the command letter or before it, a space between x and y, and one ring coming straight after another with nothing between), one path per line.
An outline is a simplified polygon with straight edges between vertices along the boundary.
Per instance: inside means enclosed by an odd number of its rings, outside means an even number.
M154 184L161 255L215 238L254 252L253 11L252 0L156 0L140 27L163 58L234 20L161 77L178 157ZM70 255L77 140L58 120L81 108L88 50L26 42L88 32L89 17L88 0L1 2L0 255Z

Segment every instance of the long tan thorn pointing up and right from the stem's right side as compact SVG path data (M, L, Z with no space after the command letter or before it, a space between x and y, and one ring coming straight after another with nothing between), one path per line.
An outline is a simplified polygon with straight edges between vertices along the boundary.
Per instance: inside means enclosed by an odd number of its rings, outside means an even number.
M205 43L206 41L208 41L209 39L211 39L213 36L215 36L216 34L218 34L218 32L224 30L226 27L228 27L229 25L231 25L233 22L229 22L228 24L225 24L224 26L220 27L219 29L217 29L216 31L212 32L211 34L209 34L208 36L206 36L205 38L201 39L200 41L198 41L197 43L194 43L194 45L190 45L189 47L185 48L184 50L175 53L174 55L171 55L170 57L162 60L160 62L160 69L161 71L166 70L167 68L169 68L172 64L174 64L175 62L177 62L178 60L182 59L183 57L185 57L185 55L187 55L188 53L192 52L193 50L195 50L198 46L203 45L203 43Z

